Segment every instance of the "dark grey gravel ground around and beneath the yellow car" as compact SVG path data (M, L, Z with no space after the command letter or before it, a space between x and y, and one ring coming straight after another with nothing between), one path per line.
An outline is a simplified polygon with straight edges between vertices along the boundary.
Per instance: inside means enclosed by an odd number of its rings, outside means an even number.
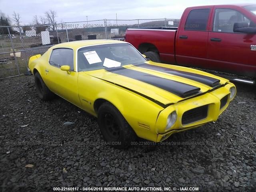
M117 150L104 143L93 116L62 98L39 100L33 76L0 80L2 191L22 188L14 186L255 191L256 88L236 86L235 100L217 122L174 134L156 147Z

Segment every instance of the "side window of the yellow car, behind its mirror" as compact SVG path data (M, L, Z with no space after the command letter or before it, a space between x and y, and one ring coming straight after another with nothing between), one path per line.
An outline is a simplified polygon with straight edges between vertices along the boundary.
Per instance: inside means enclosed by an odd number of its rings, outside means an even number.
M57 48L52 50L50 57L50 65L61 67L62 65L70 66L70 70L74 71L74 52L68 48Z

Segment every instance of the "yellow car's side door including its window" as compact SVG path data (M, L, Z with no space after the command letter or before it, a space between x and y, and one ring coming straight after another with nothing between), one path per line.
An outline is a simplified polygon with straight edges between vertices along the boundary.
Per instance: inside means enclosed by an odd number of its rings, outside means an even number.
M70 74L60 70L63 65L70 66ZM50 82L50 89L54 93L76 106L80 106L77 88L78 72L74 70L74 51L72 49L53 49L45 72Z

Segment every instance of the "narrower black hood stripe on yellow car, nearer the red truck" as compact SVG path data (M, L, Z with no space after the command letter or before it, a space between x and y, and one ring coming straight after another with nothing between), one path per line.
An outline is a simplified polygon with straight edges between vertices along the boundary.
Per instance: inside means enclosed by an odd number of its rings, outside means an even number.
M219 85L219 83L220 83L219 79L215 79L212 77L195 74L195 73L191 73L191 72L179 71L179 70L174 70L174 69L170 69L170 68L166 68L166 67L150 65L150 64L139 64L136 66L141 67L141 68L155 70L155 71L160 71L160 72L164 72L164 73L168 73L168 74L172 74L172 75L176 75L176 76L180 76L180 77L184 77L184 78L191 79L191 80L200 82L202 84L208 85L210 87L215 87L215 86Z

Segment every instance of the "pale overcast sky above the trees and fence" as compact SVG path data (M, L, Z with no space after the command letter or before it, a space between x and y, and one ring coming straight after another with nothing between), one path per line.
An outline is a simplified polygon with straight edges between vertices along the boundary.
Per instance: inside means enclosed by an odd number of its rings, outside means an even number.
M100 19L180 18L189 6L209 4L256 3L256 0L0 0L0 10L12 17L19 13L22 24L31 24L33 16L44 16L53 9L57 22Z

